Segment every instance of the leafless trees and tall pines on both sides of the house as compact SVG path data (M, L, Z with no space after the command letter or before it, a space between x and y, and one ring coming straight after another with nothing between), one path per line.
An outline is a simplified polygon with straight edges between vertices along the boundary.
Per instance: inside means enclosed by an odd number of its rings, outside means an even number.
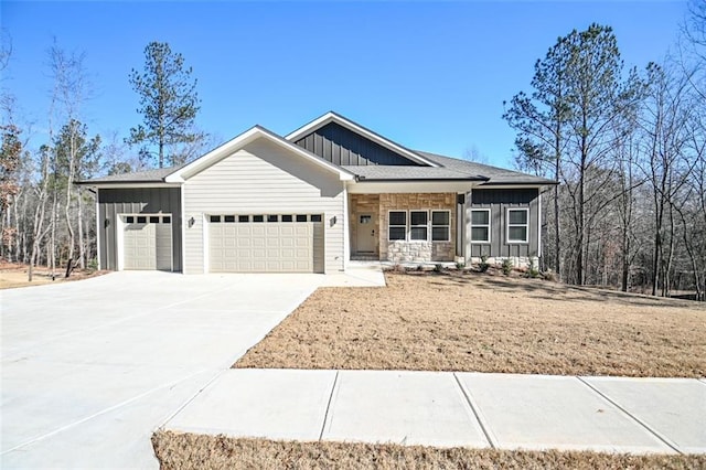
M503 104L517 169L559 182L543 194L541 267L565 282L706 298L706 2L689 4L663 61L624 70L619 38L593 24L552 45L528 90ZM0 72L11 44L3 34ZM30 148L11 92L0 97L0 258L58 275L69 260L96 267L95 194L76 181L180 163L214 142L194 126L196 81L168 44L150 43L126 77L142 119L127 140L90 135L84 57L47 52L46 142ZM160 127L161 109L186 119Z

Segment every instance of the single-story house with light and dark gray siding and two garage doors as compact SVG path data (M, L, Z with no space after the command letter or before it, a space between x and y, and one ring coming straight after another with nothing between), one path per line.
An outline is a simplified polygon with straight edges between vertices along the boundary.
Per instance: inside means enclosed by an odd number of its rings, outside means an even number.
M181 167L84 181L101 269L334 273L541 253L543 178L409 150L335 113Z

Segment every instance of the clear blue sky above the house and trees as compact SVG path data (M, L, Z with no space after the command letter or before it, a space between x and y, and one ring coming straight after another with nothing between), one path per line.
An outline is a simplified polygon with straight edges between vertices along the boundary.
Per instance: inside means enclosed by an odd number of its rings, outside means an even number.
M56 38L85 52L90 133L140 124L128 83L150 41L169 42L199 79L197 126L228 140L259 124L286 135L335 110L399 143L453 157L475 148L511 167L503 100L527 90L558 36L611 25L627 66L673 47L684 1L0 2L13 54L2 85L45 136Z

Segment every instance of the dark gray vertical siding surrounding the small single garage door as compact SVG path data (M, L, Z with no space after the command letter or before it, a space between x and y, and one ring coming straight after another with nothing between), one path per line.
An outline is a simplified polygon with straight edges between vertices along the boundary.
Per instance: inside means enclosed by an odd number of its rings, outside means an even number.
M171 214L173 270L182 270L181 196L179 188L120 188L98 190L100 268L118 269L118 217L120 214Z

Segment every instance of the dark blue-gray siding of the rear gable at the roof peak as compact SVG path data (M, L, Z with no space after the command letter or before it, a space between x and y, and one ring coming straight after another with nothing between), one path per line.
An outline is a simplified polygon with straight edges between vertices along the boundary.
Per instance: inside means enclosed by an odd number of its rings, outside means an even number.
M339 165L419 165L338 122L329 122L297 139L295 143Z

